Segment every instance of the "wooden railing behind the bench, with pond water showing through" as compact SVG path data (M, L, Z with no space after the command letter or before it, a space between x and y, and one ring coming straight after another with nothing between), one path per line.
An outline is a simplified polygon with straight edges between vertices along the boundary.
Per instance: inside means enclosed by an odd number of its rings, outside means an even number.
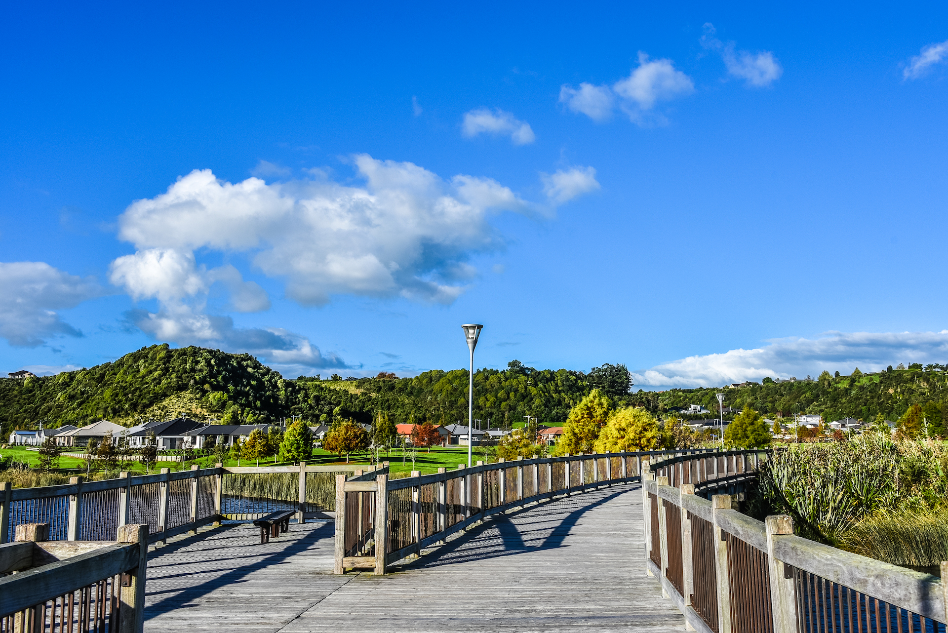
M0 544L17 525L48 523L51 541L104 541L118 527L145 524L150 542L193 532L222 518L252 519L274 510L293 510L298 520L327 517L335 500L335 474L355 464L221 467L118 479L83 481L42 488L11 488L0 482ZM260 478L257 476L267 476ZM264 480L265 479L265 480ZM320 494L321 493L321 494Z

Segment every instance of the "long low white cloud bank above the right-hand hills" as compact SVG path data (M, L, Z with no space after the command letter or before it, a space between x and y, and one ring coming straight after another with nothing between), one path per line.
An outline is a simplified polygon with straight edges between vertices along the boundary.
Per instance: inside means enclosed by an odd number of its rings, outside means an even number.
M688 356L645 371L633 371L632 380L644 387L721 387L745 380L802 378L821 371L844 374L859 367L882 371L900 362L943 363L948 359L948 330L903 333L830 333L808 338L778 339L753 350L731 350Z

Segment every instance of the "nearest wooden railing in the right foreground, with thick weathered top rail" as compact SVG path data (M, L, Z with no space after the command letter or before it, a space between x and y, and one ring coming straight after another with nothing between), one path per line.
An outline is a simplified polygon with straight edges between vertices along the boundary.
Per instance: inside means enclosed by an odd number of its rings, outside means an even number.
M666 471L671 472L671 471ZM793 519L760 522L732 497L694 494L647 473L646 566L689 628L714 633L938 633L948 622L948 564L930 574L793 535ZM679 479L681 480L681 479Z

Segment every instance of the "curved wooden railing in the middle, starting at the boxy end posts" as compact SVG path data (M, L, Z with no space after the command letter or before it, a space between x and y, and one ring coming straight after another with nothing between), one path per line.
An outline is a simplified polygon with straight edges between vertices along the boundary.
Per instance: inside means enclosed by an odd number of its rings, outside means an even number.
M643 461L711 449L599 453L500 461L389 479L337 476L336 572L386 567L489 515L556 495L640 480ZM384 491L385 494L379 494ZM384 526L384 529L378 529Z

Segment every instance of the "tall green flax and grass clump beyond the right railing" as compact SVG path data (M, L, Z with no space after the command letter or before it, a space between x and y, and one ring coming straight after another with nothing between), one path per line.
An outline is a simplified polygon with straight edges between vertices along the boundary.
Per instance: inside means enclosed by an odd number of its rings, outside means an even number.
M751 514L793 516L796 533L895 565L944 560L948 450L866 433L776 451ZM940 558L939 558L940 556ZM935 561L909 563L902 561Z

